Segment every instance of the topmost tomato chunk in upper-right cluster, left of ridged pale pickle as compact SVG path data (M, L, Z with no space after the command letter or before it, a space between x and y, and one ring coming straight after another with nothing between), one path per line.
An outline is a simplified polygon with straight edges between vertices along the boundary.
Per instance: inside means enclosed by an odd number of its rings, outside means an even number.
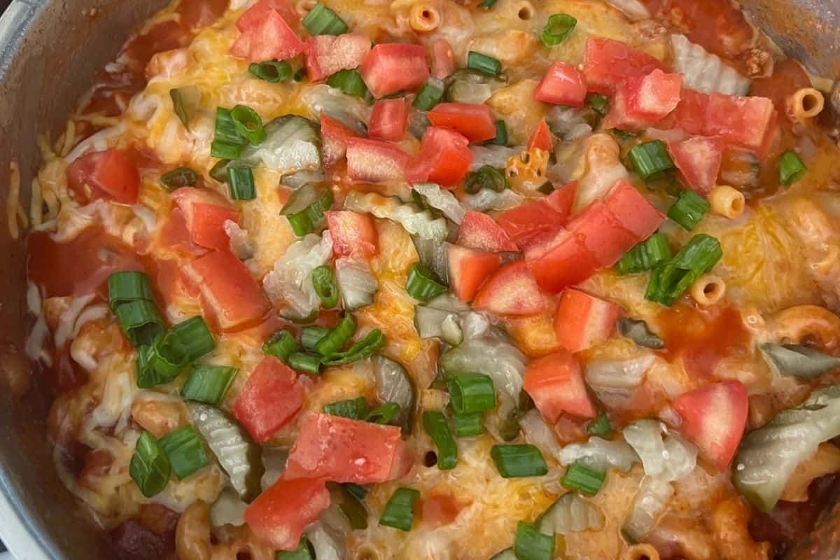
M612 39L586 39L583 74L591 92L612 94L627 78L645 76L664 65L653 56Z

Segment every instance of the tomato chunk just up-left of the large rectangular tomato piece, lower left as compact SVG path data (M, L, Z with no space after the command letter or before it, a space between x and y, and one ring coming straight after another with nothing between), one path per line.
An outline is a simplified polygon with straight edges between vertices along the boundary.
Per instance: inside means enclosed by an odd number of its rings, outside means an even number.
M234 416L257 443L267 442L303 406L297 374L274 356L266 356L250 374L234 404Z

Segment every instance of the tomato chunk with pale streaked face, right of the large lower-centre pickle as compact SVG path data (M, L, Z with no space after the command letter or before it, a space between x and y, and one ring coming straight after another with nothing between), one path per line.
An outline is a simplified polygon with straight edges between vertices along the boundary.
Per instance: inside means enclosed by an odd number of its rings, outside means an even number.
M568 352L561 350L528 364L523 386L537 410L552 425L563 414L581 418L596 416L580 365Z

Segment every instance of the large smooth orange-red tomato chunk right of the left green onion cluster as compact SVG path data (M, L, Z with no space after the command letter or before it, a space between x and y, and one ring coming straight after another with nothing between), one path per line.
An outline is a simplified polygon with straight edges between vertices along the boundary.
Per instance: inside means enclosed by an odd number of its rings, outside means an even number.
M242 261L227 251L213 251L192 261L187 273L223 330L256 322L270 309L260 285Z

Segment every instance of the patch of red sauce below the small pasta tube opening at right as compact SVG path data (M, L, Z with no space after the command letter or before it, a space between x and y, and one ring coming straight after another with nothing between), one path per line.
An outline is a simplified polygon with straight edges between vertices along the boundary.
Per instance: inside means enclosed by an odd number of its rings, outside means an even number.
M692 375L710 375L727 356L748 353L751 338L734 307L675 306L659 312L659 325L670 361L681 359Z

